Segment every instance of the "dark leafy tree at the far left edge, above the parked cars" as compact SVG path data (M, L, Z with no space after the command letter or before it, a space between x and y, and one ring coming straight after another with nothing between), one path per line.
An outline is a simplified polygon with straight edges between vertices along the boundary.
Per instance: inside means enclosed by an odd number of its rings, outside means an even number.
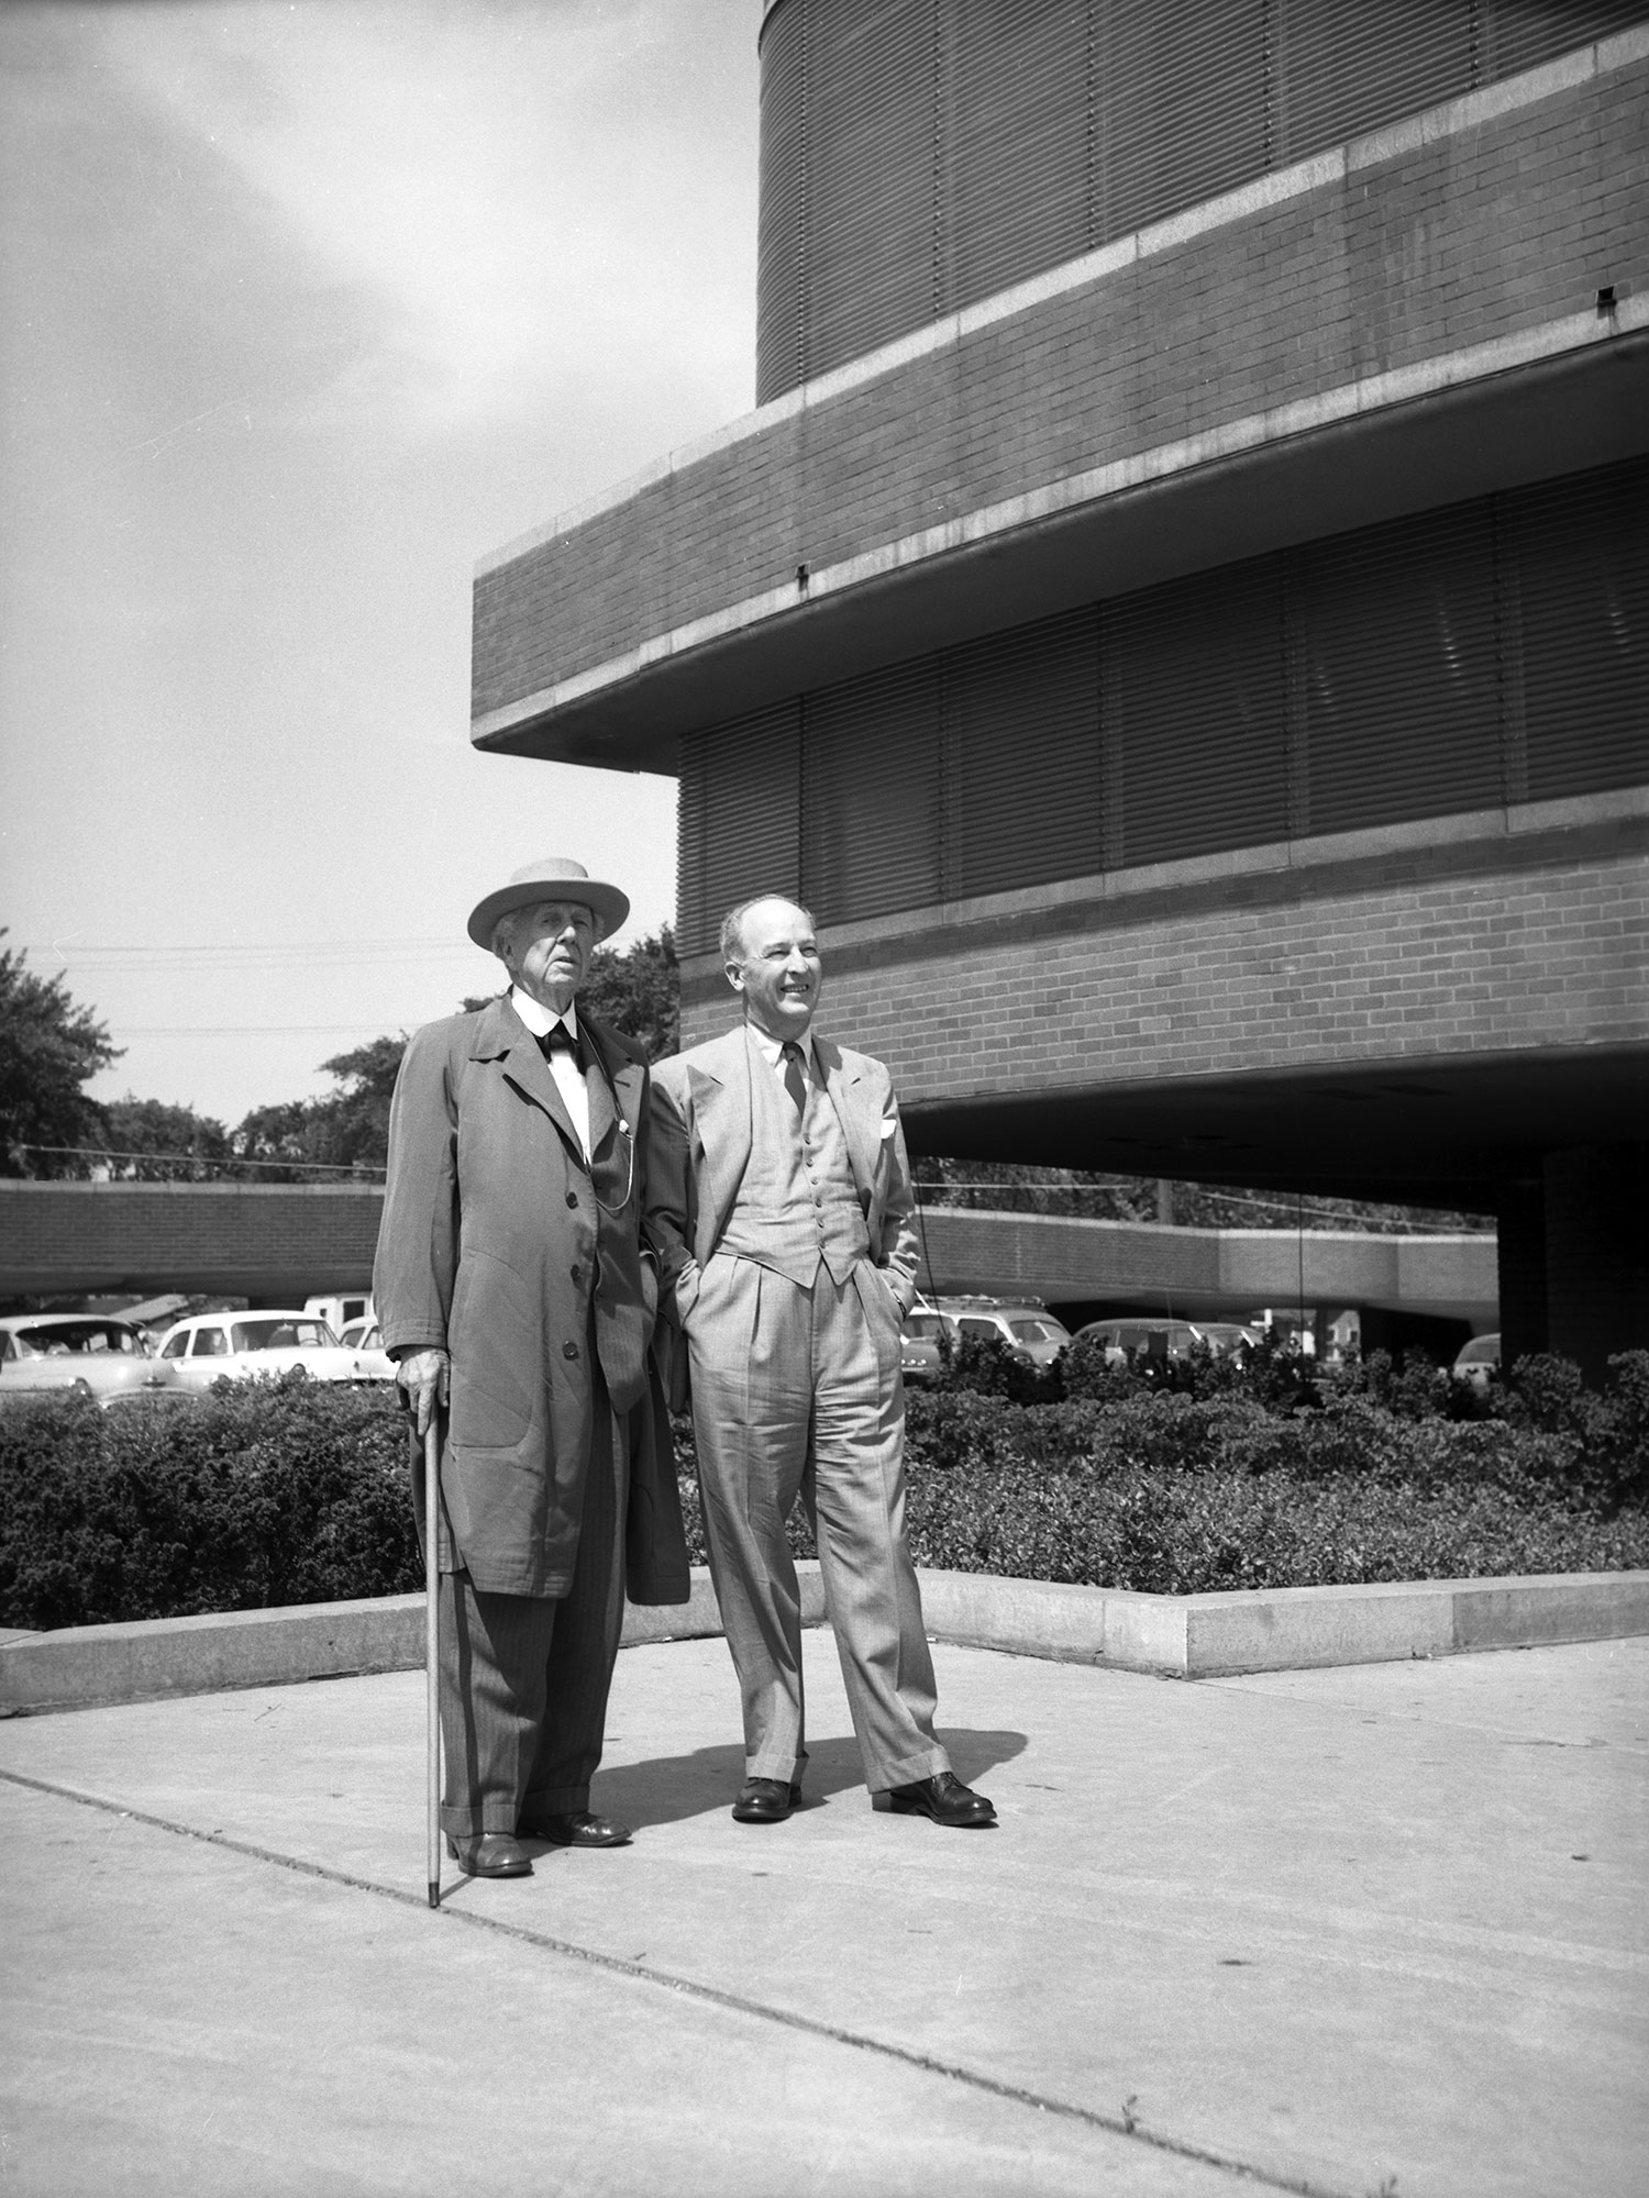
M44 1147L99 1141L101 1108L84 1086L123 1048L59 976L35 976L26 963L22 950L0 947L0 1174L86 1174L81 1156Z

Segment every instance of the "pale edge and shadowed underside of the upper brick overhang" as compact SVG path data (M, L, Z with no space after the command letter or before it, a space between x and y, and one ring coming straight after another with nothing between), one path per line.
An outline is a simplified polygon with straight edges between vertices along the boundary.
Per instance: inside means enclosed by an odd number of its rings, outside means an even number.
M484 712L475 745L675 771L682 734L970 635L1634 457L1649 451L1645 308L1618 332L1576 314L809 567Z

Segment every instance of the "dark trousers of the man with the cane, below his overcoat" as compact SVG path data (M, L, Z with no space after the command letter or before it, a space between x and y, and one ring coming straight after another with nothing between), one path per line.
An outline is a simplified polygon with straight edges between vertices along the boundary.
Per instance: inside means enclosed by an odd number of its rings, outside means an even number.
M495 1596L444 1572L442 1831L514 1831L521 1818L589 1807L607 1692L624 1631L629 1448L589 1361L594 1413L585 1512L565 1596Z

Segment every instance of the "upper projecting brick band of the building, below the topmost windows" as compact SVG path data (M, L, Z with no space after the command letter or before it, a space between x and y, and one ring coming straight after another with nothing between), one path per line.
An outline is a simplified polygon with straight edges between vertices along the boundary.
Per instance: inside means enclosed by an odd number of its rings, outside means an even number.
M1612 42L1642 55L1642 35ZM1605 48L1601 48L1605 51ZM1559 73L1561 75L1561 73ZM1346 171L1075 290L756 413L486 571L484 717L651 635L1088 468L1649 284L1649 62ZM1449 110L1438 110L1449 116ZM1172 224L1165 231L1172 235Z

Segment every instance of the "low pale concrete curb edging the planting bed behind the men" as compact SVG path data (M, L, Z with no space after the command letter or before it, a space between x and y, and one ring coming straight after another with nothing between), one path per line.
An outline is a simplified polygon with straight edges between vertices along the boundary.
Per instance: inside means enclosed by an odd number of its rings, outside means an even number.
M820 1624L818 1563L796 1572L803 1624ZM1137 1596L985 1572L923 1572L921 1602L937 1640L1172 1679L1649 1633L1649 1572L1269 1587L1222 1596ZM624 1613L627 1648L719 1631L721 1613L704 1567L693 1572L688 1602ZM0 1638L0 1714L416 1670L422 1662L422 1596L64 1627Z

